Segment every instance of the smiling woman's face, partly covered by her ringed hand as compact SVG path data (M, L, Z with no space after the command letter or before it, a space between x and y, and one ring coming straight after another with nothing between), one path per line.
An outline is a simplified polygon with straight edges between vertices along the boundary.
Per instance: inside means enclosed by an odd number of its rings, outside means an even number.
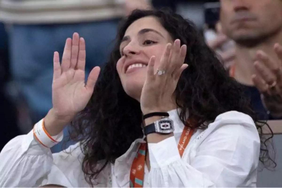
M140 100L149 60L155 56L157 71L167 43L173 44L173 40L153 16L140 18L127 28L120 44L122 57L117 62L116 69L129 96Z

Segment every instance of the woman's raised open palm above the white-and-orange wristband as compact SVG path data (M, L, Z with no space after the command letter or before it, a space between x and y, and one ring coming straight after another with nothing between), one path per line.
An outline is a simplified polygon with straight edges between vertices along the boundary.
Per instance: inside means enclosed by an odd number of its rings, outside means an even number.
M74 116L91 98L100 67L92 69L85 85L85 54L85 41L78 33L66 40L61 65L59 53L54 53L52 102L59 116Z

